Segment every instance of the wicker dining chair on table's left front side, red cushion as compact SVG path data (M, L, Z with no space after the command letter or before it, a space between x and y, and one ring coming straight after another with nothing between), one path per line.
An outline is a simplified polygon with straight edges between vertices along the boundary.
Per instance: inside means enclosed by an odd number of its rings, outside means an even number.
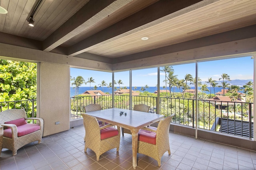
M120 147L120 127L114 128L108 124L102 127L99 126L95 117L82 113L84 118L85 129L85 146L93 150L96 154L96 160L100 159L100 155L104 152L116 148L119 151Z

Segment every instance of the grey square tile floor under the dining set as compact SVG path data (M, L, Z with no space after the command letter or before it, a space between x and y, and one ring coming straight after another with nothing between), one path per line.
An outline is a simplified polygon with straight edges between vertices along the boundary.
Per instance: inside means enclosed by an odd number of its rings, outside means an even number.
M156 160L137 154L137 170L247 170L256 169L256 152L169 133L171 155ZM121 135L120 150L100 156L90 149L84 152L84 127L43 137L42 143L30 143L16 156L7 149L0 156L1 170L132 170L132 136Z

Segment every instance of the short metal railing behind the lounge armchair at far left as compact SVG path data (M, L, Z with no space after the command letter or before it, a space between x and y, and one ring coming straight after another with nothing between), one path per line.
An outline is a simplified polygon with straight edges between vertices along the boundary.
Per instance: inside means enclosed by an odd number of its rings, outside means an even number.
M24 109L26 117L36 117L36 99L0 102L0 111L8 109Z

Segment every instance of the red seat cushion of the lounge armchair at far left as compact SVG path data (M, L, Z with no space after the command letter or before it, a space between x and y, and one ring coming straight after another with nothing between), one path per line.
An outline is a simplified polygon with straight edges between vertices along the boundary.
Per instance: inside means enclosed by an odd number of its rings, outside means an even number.
M26 124L17 126L18 129L18 137L28 135L29 133L35 132L40 129L40 125L38 124ZM12 129L4 130L4 137L12 138Z

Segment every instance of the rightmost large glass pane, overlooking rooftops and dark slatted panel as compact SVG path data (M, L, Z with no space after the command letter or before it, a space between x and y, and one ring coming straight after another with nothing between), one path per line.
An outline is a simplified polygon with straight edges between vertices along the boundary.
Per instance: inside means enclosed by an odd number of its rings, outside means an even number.
M253 59L198 63L198 127L249 137L252 126Z

